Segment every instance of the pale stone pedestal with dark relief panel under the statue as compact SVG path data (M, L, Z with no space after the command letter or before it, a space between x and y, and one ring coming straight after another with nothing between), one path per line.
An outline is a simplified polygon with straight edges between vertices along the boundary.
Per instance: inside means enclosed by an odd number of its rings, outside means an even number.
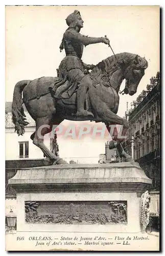
M151 180L138 163L20 169L17 231L139 232L140 196Z

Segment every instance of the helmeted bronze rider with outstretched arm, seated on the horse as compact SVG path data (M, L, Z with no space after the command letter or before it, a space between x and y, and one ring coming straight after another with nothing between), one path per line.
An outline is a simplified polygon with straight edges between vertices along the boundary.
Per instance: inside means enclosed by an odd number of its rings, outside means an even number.
M80 34L83 28L83 20L80 12L75 10L67 16L66 24L68 29L63 34L60 51L65 49L66 57L61 61L59 73L62 78L66 78L78 87L77 90L77 116L93 116L84 109L85 96L88 88L92 85L89 75L85 75L84 70L91 70L93 65L86 65L82 62L84 46L104 42L109 44L109 39L105 37L88 37Z

